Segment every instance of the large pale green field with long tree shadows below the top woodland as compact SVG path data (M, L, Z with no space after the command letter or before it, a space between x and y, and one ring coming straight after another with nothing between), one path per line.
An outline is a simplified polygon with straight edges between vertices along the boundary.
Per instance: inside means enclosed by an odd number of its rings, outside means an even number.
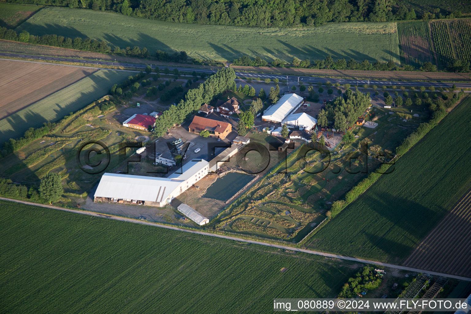
M178 24L85 9L44 8L16 31L106 40L114 46L185 50L189 56L232 61L243 55L268 61L354 58L399 63L396 23L341 23L311 28L250 28Z

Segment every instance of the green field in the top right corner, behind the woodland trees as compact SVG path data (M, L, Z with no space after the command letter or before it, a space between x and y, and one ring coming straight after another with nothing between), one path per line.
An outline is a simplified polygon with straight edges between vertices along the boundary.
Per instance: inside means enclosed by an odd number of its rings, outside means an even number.
M398 0L398 6L405 5L415 12L431 12L434 8L439 8L442 13L453 12L459 10L463 13L470 13L471 7L467 0Z

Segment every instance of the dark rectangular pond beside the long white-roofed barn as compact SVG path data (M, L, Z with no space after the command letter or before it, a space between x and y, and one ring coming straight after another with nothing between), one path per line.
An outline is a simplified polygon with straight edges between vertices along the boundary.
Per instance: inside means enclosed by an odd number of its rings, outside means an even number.
M240 173L229 172L227 175L216 179L206 190L203 197L226 201L235 193L239 192L247 183L253 180L253 176Z

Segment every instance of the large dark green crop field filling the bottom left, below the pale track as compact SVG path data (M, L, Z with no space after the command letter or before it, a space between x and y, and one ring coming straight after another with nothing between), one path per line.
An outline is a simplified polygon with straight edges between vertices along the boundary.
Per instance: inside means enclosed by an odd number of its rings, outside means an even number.
M272 313L273 298L334 297L357 271L54 209L0 201L0 211L2 313Z

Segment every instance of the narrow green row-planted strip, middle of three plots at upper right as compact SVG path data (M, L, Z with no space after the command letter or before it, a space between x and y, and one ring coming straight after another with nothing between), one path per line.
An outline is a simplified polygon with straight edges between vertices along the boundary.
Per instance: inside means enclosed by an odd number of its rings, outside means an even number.
M444 21L430 22L430 29L438 62L445 67L454 59L448 23Z

